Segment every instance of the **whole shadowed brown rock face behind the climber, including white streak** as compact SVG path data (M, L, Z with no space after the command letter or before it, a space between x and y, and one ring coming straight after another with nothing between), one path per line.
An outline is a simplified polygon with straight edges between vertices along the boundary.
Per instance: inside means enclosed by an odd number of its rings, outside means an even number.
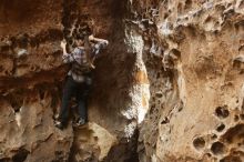
M136 52L124 43L125 1L0 1L0 161L136 161L138 108L145 109ZM69 65L60 41L93 27L110 41L95 62L89 123L53 124ZM149 92L149 91L148 91ZM136 102L136 103L134 103ZM143 110L145 113L146 110ZM73 114L73 115L72 115ZM143 114L142 114L143 117Z

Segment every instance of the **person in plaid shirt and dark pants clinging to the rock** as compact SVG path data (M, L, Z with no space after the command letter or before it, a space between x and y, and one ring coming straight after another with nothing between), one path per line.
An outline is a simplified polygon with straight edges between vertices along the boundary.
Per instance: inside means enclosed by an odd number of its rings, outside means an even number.
M87 100L89 90L92 83L92 70L95 68L93 61L101 49L109 44L108 40L94 38L93 34L87 33L77 37L74 50L71 53L67 52L67 43L61 42L63 50L63 62L71 63L71 69L68 72L61 109L55 126L64 129L68 124L69 102L72 97L75 97L78 102L79 119L77 125L83 125L88 121L87 117Z

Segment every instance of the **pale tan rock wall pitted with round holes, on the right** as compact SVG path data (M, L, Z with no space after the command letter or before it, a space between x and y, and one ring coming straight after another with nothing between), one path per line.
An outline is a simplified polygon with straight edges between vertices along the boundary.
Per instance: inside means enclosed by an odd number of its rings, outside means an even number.
M150 109L140 161L244 161L244 1L132 1Z

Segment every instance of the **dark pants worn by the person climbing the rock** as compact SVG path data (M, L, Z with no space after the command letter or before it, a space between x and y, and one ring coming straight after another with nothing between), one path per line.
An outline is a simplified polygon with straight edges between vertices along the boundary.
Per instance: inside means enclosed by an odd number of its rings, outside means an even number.
M87 84L85 82L75 82L70 75L67 78L63 88L62 105L60 110L60 121L62 123L68 122L69 103L72 97L75 97L78 102L78 111L80 118L84 119L85 121L88 120L87 105L90 87L91 85Z

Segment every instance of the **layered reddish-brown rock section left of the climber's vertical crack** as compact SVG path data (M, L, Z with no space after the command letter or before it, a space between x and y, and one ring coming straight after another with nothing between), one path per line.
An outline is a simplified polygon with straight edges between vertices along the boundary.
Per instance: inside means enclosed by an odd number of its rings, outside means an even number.
M3 0L0 18L0 160L65 160L73 134L52 120L64 74L62 3Z

